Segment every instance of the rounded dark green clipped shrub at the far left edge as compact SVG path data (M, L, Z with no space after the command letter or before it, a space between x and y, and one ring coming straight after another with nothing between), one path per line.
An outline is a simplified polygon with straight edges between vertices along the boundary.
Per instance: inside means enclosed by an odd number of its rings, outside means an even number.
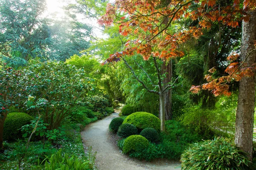
M15 140L22 137L20 128L32 121L32 116L26 113L8 113L3 125L3 140Z

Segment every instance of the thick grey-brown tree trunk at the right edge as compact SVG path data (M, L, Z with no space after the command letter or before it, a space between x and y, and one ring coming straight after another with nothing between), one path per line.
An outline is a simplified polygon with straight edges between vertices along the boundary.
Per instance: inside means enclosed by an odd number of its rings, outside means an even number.
M242 45L240 57L241 62L245 60L242 68L250 67L255 63L256 59L256 51L253 51L248 56L248 53L255 48L253 44L254 40L256 40L256 10L254 9L248 13L251 16L250 20L248 22L242 22ZM237 147L249 154L248 158L250 160L252 160L253 153L254 98L254 77L243 77L239 82L235 143Z

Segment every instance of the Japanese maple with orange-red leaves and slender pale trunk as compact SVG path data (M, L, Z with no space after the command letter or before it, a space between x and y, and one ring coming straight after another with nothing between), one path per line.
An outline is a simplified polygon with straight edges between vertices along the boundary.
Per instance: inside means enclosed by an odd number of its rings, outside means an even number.
M198 37L203 34L202 30L210 29L212 23L219 22L227 26L237 27L239 26L239 22L242 21L243 28L246 28L246 24L249 23L250 25L250 21L255 18L255 0L244 0L243 8L241 8L239 0L234 0L233 5L224 6L221 6L221 3L217 0L169 0L165 2L167 3L165 6L162 6L162 3L162 0L116 0L114 4L108 4L106 14L100 18L99 23L105 24L105 26L110 26L112 23L119 24L119 33L123 36L129 36L130 40L126 42L126 48L122 52L112 54L105 63L117 62L123 59L128 65L125 56L132 56L136 53L143 56L145 60L152 57L155 63L157 63L157 59L168 61L177 57L183 57L185 54L182 49L184 43L192 39L198 39ZM188 21L190 21L190 23L186 23ZM198 25L195 26L195 22L198 23ZM253 24L254 22L252 21L251 23ZM253 25L250 26L254 28ZM246 32L244 29L243 33L250 34L250 32ZM252 37L255 36L253 35ZM248 39L250 39L251 44L251 38L247 37L247 39L245 38L244 40L247 41ZM256 37L254 40L255 39ZM250 48L245 46L244 48L246 48L245 54L249 55L250 51L248 50ZM254 51L252 54L254 56ZM238 63L233 63L227 68L227 72L236 72L237 68L243 68L243 61L246 59L249 60L248 58L249 57L244 57L243 59L241 57L241 66L237 66ZM129 65L128 68L130 68ZM161 130L164 130L165 119L163 113L163 99L161 98L163 98L163 93L166 90L172 88L172 84L163 86L163 79L160 77L160 70L157 64L156 68L158 72L159 82L157 86L159 91L148 89L140 79L136 78L137 76L132 71L132 68L130 69L134 77L144 88L160 96ZM244 69L244 71L240 70L239 73L233 74L233 72L230 74L231 77L227 77L227 79L236 76L237 80L239 80L239 77L241 77L240 80L242 80L245 76L251 75L251 71L248 69ZM212 77L209 75L207 79L212 81ZM208 83L204 85L203 88L216 89L216 87L221 87L214 83L219 82ZM227 95L230 94L227 91L226 85L223 85L221 88L224 89L215 90L214 93L219 94L223 92ZM197 90L195 87L194 89ZM255 89L253 89L253 91L255 91ZM250 120L251 119L252 118L250 118ZM239 144L245 142L244 139L237 139L237 141L236 144L239 147L241 147ZM251 159L252 140L249 150L244 147L241 148L250 153L249 157Z

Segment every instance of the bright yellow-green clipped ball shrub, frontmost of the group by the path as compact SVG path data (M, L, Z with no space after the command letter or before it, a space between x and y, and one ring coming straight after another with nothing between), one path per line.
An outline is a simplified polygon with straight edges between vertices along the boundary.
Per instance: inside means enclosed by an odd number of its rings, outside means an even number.
M123 153L132 153L143 150L149 145L148 140L140 135L132 135L125 139Z

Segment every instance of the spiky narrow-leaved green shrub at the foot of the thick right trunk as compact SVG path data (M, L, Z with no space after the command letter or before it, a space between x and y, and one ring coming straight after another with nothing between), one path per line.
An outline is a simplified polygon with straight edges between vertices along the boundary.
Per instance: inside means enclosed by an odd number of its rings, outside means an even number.
M180 160L183 170L244 170L250 163L231 139L224 138L192 144Z

